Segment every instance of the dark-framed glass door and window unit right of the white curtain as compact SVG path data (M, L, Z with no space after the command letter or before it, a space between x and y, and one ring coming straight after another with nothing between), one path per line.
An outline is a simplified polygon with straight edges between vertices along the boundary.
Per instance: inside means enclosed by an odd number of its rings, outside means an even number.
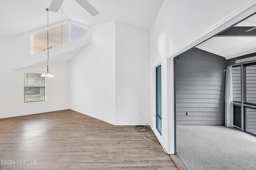
M234 127L256 135L256 63L232 67Z

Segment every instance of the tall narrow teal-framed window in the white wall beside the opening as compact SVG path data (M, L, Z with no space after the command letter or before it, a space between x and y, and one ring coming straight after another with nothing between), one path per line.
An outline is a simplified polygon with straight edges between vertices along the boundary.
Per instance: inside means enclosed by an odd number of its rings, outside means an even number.
M156 129L162 135L161 65L156 67Z

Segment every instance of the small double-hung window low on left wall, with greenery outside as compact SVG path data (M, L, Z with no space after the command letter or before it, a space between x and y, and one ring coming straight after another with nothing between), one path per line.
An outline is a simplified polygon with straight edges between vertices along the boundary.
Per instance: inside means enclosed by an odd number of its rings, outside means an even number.
M45 101L45 78L38 73L24 74L24 102Z

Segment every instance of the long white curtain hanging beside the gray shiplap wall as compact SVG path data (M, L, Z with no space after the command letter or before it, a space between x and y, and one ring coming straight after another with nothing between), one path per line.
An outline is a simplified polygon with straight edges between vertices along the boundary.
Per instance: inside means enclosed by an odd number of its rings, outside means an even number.
M226 68L226 89L225 89L225 125L233 127L233 86L232 86L232 66Z

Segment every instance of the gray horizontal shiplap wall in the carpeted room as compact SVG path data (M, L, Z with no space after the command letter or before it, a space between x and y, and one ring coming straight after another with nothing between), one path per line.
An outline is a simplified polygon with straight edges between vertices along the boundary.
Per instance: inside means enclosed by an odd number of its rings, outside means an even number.
M225 124L225 68L224 57L197 48L175 59L177 125Z

